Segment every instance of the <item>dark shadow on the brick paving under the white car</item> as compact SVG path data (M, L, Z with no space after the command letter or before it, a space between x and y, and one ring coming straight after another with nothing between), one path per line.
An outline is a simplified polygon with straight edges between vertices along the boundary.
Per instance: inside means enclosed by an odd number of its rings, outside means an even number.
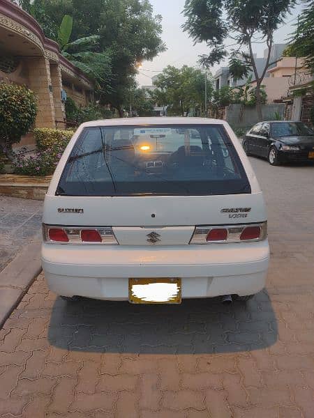
M220 298L180 305L81 299L54 302L48 339L65 350L99 353L235 353L269 347L277 321L266 290L225 306Z

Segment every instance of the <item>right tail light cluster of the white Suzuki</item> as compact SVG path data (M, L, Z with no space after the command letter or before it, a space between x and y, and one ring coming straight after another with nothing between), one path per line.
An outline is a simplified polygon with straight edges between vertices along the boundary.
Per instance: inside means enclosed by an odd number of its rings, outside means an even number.
M267 238L267 222L228 226L196 226L190 244L262 241Z

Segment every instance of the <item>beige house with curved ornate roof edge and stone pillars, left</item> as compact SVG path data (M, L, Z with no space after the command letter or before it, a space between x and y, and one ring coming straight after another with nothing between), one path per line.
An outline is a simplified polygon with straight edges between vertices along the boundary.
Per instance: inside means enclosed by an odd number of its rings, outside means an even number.
M31 15L8 0L0 0L0 82L36 93L36 127L66 127L66 97L79 106L93 98L91 81L61 55L57 42L45 38Z

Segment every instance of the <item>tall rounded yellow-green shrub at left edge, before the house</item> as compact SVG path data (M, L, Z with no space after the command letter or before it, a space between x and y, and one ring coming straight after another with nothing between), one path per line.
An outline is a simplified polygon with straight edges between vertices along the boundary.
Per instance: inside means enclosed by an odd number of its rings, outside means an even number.
M12 144L27 134L37 114L36 95L26 86L0 83L0 146Z

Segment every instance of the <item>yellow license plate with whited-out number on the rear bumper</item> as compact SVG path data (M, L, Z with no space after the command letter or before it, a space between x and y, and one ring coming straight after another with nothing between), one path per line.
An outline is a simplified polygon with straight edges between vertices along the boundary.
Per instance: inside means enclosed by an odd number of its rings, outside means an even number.
M179 304L181 279L128 279L128 300L137 304Z

